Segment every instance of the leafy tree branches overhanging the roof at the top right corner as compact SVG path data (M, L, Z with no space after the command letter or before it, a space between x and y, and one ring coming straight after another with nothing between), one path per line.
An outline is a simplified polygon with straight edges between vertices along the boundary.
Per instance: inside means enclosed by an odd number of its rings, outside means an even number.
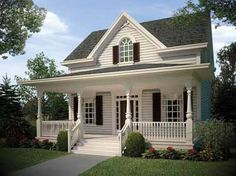
M220 25L220 22L236 26L235 11L236 1L234 0L198 0L198 3L189 0L174 14L173 22L180 25L191 25L202 17L202 13L207 13L216 20L217 26Z

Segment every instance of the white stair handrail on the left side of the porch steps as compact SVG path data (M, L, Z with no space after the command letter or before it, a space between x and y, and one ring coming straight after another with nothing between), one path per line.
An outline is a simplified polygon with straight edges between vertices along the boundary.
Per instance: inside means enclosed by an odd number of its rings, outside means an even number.
M78 142L80 134L80 121L76 121L75 126L68 129L68 152L71 152L71 148Z

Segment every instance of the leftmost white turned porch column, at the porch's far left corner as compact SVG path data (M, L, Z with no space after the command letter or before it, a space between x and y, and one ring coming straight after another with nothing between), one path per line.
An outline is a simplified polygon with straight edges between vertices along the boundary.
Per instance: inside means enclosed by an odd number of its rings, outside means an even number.
M43 92L38 90L37 91L37 99L38 99L38 114L37 114L37 121L36 121L36 126L37 126L37 137L42 136L42 129L41 129L41 124L42 124L42 96Z

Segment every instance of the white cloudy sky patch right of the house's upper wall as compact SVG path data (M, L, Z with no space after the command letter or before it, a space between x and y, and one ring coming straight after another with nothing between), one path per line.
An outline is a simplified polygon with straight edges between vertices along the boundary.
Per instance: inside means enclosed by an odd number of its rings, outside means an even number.
M212 35L213 35L213 48L214 48L214 59L217 59L217 53L219 50L236 41L236 28L235 26L220 26L215 28L215 24L212 24ZM219 66L216 64L216 74L219 74Z

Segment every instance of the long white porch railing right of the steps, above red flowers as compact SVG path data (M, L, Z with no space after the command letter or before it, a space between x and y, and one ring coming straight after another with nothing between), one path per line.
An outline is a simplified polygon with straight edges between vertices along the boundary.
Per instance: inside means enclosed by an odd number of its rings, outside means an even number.
M186 142L186 122L133 122L133 131L148 140Z

